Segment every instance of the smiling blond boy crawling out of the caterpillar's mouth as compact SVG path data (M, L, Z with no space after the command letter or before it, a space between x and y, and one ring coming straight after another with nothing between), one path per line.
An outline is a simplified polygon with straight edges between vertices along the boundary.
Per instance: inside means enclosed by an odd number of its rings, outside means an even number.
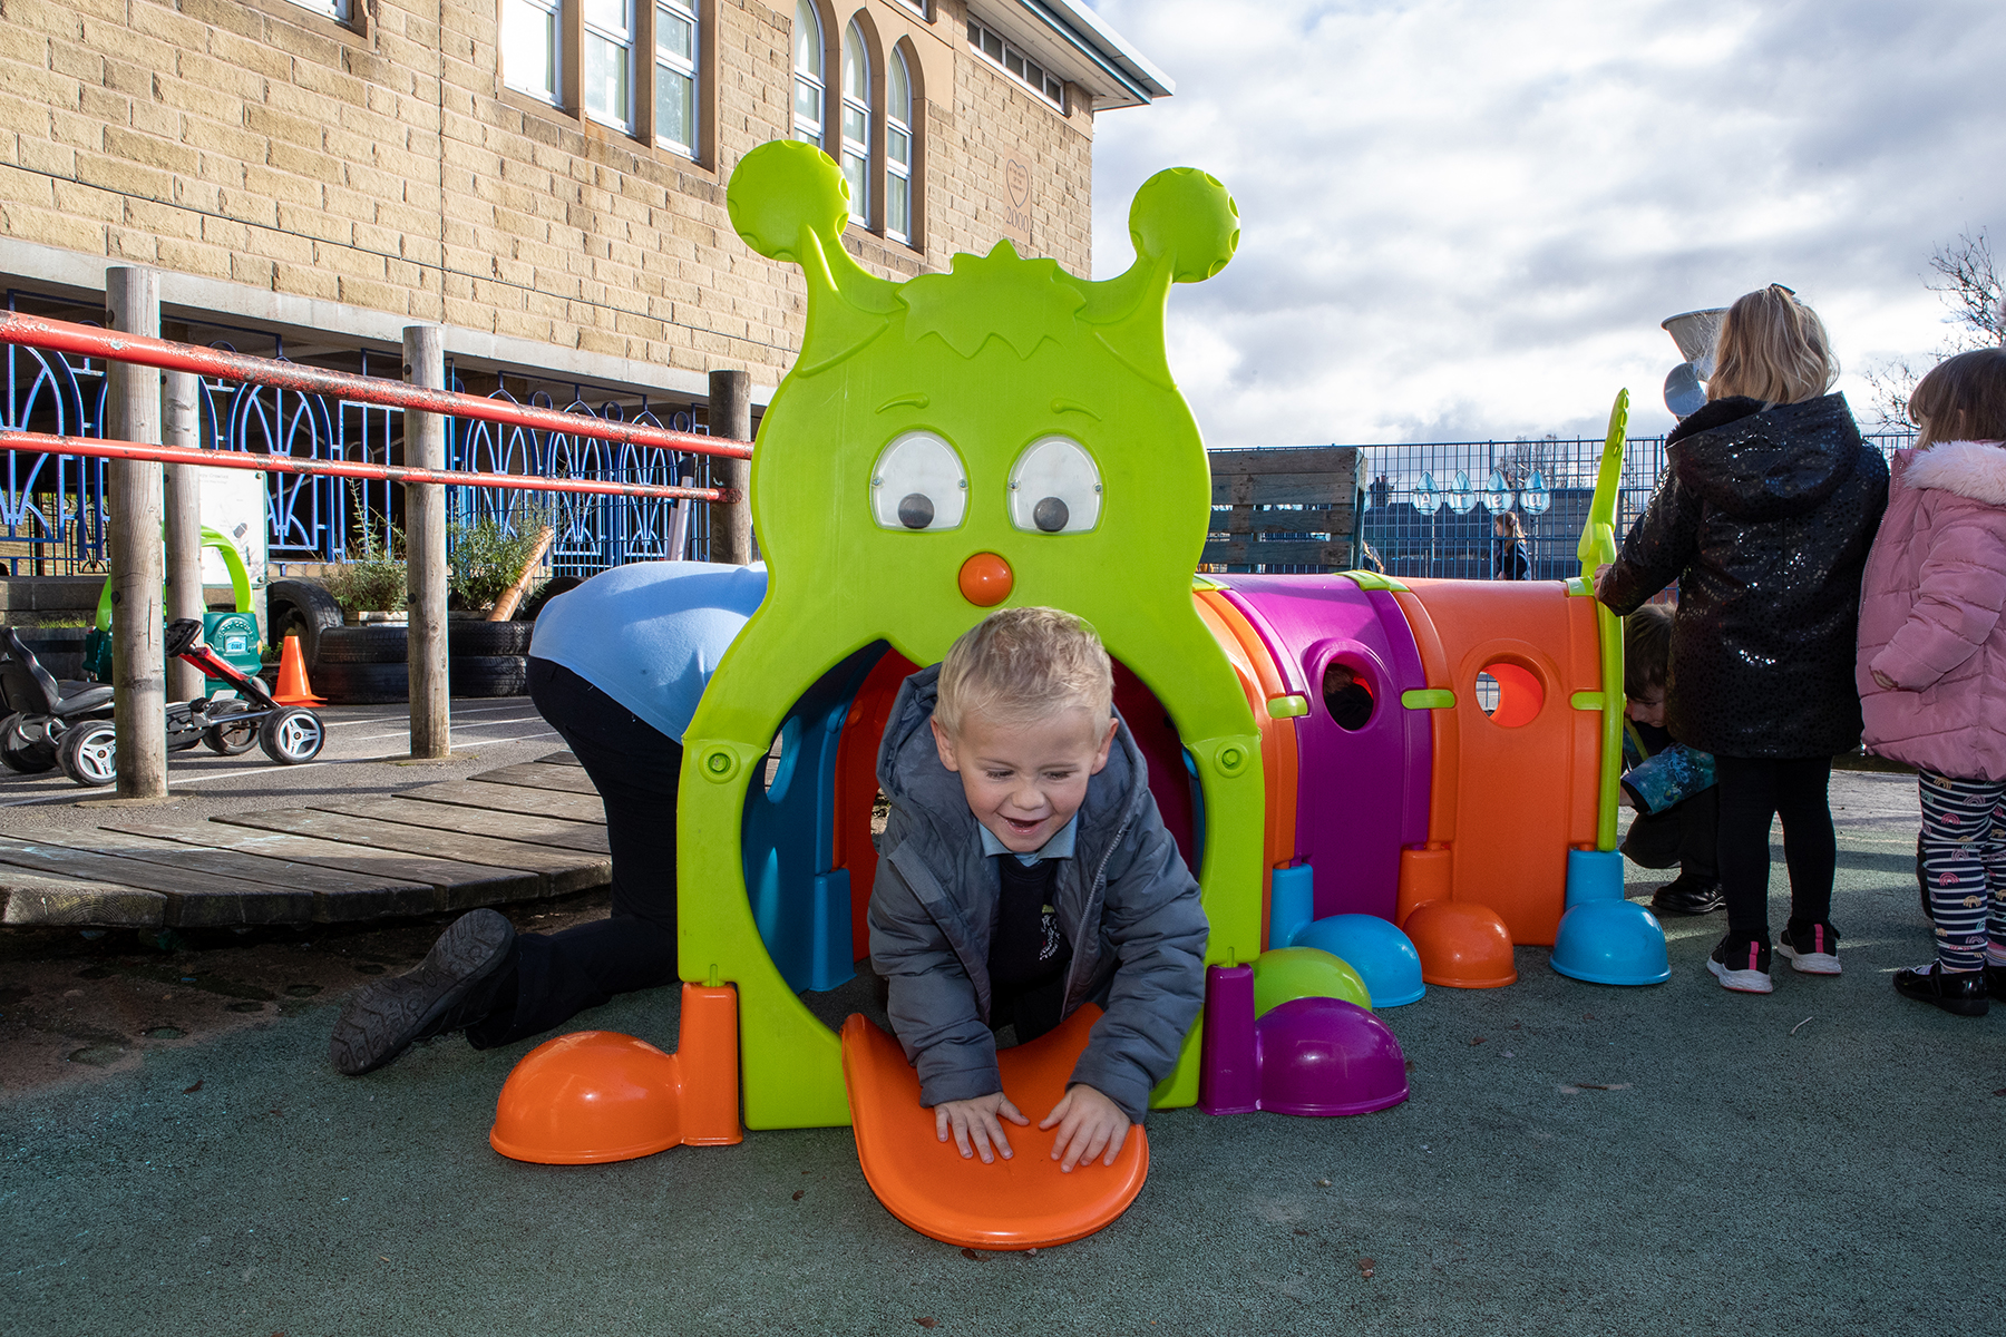
M1093 627L1013 607L907 678L885 730L871 960L935 1135L963 1157L1009 1159L1003 1121L1031 1123L997 1074L1001 1026L1023 1042L1107 1008L1039 1123L1071 1171L1113 1165L1198 1016L1198 882L1111 696Z

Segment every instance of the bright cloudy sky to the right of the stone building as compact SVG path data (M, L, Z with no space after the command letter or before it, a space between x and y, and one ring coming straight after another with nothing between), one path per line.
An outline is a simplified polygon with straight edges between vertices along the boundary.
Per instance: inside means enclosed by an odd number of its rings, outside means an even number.
M1860 373L1928 359L1930 255L2006 251L2000 0L1097 0L1178 84L1095 128L1099 277L1127 202L1204 166L1234 263L1172 293L1212 445L1671 425L1659 329L1785 283Z

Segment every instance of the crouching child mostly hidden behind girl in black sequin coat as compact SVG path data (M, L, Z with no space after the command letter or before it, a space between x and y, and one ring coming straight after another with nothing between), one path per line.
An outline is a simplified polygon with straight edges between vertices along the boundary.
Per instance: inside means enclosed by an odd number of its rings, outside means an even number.
M1623 802L1637 810L1623 854L1645 868L1679 866L1657 888L1659 914L1713 914L1721 898L1715 830L1719 790L1713 758L1665 732L1665 676L1671 661L1671 607L1645 603L1623 625Z

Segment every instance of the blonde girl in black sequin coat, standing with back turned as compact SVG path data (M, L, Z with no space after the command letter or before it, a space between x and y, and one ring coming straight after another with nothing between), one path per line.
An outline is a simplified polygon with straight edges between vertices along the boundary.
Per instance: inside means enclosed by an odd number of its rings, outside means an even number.
M1860 575L1888 463L1860 437L1823 325L1789 289L1721 321L1709 403L1667 437L1669 467L1597 595L1629 613L1673 579L1667 728L1715 756L1727 936L1709 968L1769 992L1769 822L1783 818L1791 966L1837 974L1829 922L1831 758L1860 742Z

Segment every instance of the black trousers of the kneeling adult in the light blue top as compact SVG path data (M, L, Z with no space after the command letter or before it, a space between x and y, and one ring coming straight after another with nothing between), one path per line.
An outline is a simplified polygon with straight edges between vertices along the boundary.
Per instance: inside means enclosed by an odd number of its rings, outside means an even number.
M676 980L676 782L682 744L568 667L530 659L530 700L606 802L612 918L522 934L473 1048L562 1026L614 994ZM514 974L514 980L508 976Z

